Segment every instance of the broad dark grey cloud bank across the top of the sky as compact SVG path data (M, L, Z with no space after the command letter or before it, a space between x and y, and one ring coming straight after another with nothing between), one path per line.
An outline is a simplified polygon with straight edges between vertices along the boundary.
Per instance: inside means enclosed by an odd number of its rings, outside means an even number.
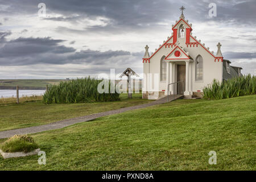
M38 3L42 1L18 0L0 1L8 6L5 10L9 14L36 14ZM200 22L208 21L209 3L216 3L217 17L210 18L216 22L229 22L240 24L255 23L256 1L238 0L205 0L205 1L154 1L154 0L97 0L97 1L69 1L69 0L45 0L47 12L57 13L63 16L48 17L48 20L74 22L82 18L95 18L103 16L113 20L115 27L145 27L158 24L158 22L170 22L180 15L179 7L184 5L185 17L189 20ZM6 12L4 12L7 14ZM74 15L75 14L75 15ZM97 28L94 27L94 28Z

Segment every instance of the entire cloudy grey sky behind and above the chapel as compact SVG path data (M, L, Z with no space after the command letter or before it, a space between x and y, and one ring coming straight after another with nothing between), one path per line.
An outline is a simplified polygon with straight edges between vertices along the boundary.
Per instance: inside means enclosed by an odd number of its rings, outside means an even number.
M144 47L153 52L171 35L180 6L210 51L221 42L225 59L256 75L255 0L0 0L0 79L142 73Z

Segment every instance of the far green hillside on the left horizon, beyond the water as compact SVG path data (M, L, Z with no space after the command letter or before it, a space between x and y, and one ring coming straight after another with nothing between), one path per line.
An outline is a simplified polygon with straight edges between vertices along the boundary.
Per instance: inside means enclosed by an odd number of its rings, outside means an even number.
M60 81L65 80L0 80L0 89L15 89L18 85L23 90L43 90L46 85L59 84Z

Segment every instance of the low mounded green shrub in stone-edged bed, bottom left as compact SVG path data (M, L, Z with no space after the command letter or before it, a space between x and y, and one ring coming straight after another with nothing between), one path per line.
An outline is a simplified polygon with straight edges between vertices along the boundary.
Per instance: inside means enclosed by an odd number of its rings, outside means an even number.
M30 152L38 148L32 137L27 135L14 135L7 139L1 146L3 152Z

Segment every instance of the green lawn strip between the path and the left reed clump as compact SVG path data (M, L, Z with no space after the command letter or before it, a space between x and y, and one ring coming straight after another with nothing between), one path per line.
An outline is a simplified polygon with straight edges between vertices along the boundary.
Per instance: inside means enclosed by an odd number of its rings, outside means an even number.
M45 105L42 101L36 101L23 102L19 105L0 104L0 131L44 125L146 102L151 101L143 100L142 94L133 94L133 99L127 99L127 94L121 94L120 101L115 102Z

